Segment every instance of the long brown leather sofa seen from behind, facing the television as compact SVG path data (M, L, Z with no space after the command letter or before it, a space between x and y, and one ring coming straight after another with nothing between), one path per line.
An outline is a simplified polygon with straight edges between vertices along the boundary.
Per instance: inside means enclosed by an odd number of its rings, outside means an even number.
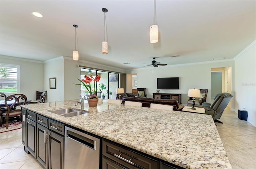
M125 101L138 101L142 103L142 107L150 107L151 103L156 104L165 104L165 105L172 105L173 110L181 111L184 105L180 105L177 100L175 99L152 99L147 97L127 97L124 96L122 103L124 104Z

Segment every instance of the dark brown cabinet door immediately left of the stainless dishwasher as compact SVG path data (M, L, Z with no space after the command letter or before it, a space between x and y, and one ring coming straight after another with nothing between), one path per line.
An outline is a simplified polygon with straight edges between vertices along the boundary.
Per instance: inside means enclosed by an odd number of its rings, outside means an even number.
M48 130L48 156L50 169L64 169L64 136Z

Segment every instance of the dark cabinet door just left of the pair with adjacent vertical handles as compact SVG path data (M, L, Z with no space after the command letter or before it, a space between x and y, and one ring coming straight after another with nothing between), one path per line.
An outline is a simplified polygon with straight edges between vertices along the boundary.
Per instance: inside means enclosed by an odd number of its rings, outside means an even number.
M26 119L28 151L36 157L36 122Z

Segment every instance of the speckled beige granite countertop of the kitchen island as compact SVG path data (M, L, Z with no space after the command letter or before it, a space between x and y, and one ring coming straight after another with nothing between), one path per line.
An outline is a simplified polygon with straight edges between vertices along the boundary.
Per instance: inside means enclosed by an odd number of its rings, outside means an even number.
M184 168L232 169L211 115L110 103L85 103L88 113L74 117L49 112L80 109L75 101L22 107Z

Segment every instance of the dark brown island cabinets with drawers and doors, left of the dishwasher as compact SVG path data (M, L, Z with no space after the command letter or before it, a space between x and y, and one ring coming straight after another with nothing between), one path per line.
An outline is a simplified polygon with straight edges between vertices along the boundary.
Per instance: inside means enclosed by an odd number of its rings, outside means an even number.
M64 124L26 109L22 117L24 151L46 169L64 169Z

